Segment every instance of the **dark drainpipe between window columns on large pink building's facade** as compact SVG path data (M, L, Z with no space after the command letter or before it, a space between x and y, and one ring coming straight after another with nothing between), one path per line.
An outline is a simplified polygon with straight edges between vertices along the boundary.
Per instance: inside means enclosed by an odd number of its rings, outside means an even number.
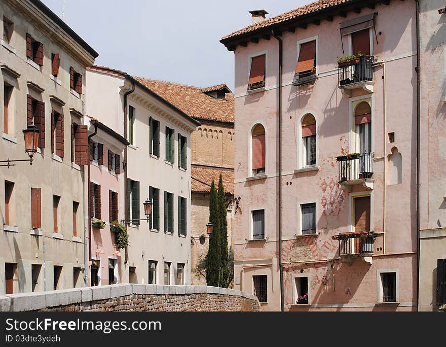
M278 89L278 125L279 125L279 274L280 274L280 310L284 311L283 302L283 265L282 265L282 39L272 29L274 38L279 41L279 89Z

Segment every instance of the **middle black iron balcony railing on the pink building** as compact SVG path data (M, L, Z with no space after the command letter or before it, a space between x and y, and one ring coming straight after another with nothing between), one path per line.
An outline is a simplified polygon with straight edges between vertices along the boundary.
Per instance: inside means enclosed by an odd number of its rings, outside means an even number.
M373 153L353 153L336 159L339 182L373 178Z

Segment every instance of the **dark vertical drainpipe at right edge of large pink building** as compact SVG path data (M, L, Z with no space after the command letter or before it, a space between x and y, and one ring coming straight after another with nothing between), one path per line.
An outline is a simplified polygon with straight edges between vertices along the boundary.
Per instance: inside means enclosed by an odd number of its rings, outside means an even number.
M421 115L421 62L420 62L420 3L415 0L417 22L417 309L420 299L420 115Z

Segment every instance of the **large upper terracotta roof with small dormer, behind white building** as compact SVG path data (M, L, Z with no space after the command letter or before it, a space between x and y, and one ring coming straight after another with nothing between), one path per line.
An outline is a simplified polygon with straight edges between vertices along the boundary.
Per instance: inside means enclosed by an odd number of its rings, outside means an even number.
M218 100L204 93L204 91L220 90L226 84L202 89L173 82L133 78L190 117L234 122L233 93L227 93L226 100Z

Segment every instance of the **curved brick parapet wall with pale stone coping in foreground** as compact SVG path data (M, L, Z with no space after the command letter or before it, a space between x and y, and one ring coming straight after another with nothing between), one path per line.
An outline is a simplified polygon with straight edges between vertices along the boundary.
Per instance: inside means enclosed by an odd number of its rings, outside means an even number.
M257 297L208 286L108 285L0 296L0 311L259 311Z

